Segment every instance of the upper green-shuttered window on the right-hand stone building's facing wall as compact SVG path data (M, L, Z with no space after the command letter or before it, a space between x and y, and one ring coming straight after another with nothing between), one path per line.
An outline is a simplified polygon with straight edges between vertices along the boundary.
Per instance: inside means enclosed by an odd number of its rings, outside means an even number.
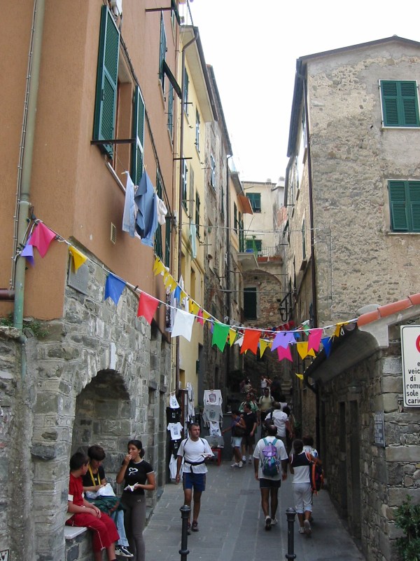
M384 127L419 127L419 95L414 80L379 81Z

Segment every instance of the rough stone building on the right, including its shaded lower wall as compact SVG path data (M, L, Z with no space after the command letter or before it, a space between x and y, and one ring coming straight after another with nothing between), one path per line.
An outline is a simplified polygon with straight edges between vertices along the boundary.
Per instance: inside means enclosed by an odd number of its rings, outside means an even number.
M398 36L304 56L290 118L286 282L295 323L322 327L331 344L314 360L293 345L295 414L378 561L396 558L394 508L407 493L420 501L419 408L401 407L399 335L419 321L416 297L405 300L420 248L419 69L420 43Z

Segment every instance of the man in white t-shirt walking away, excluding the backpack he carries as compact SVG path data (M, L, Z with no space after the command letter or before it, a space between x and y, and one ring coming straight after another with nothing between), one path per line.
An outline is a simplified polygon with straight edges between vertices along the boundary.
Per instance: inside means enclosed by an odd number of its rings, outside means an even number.
M253 452L255 479L260 481L261 508L265 516L265 529L270 530L277 523L276 512L279 504L278 494L281 481L287 478L288 456L283 442L276 438L277 429L274 425L267 426L267 436L258 440ZM275 475L265 475L262 466L265 459L263 450L269 444L276 447L276 458L281 462L279 473ZM269 507L271 506L271 515Z

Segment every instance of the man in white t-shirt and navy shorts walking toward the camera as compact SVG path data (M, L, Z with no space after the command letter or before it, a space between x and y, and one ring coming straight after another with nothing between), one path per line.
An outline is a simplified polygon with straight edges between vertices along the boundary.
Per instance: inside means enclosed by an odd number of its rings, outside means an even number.
M196 423L190 424L190 436L184 438L178 449L178 458L176 464L176 482L179 483L181 464L183 460L183 492L184 504L193 506L193 524L190 524L190 515L188 515L188 534L198 532L198 516L200 515L201 496L206 489L206 473L207 466L205 461L207 458L214 456L211 452L209 442L200 438L200 426ZM194 496L193 496L194 491Z

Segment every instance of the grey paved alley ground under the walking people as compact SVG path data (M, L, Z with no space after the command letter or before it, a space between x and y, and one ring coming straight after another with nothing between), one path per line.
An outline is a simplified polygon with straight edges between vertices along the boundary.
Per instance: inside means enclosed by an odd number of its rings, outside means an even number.
M284 560L287 553L286 508L293 507L292 477L279 490L278 525L264 528L260 489L253 466L231 468L231 462L209 463L202 494L200 532L188 536L188 561ZM147 561L178 561L181 548L182 484L169 483L144 531ZM314 496L310 537L299 534L295 521L297 561L365 561L332 506L328 492Z

